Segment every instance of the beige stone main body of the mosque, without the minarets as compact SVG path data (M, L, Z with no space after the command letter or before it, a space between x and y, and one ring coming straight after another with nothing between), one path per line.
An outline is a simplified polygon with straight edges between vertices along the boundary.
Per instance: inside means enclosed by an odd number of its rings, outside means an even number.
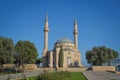
M61 38L59 40L68 40L67 38ZM59 41L58 40L58 41ZM63 67L78 67L81 64L80 52L74 47L72 42L56 42L53 49L53 63L54 67L58 67L59 52L62 46L63 48Z

